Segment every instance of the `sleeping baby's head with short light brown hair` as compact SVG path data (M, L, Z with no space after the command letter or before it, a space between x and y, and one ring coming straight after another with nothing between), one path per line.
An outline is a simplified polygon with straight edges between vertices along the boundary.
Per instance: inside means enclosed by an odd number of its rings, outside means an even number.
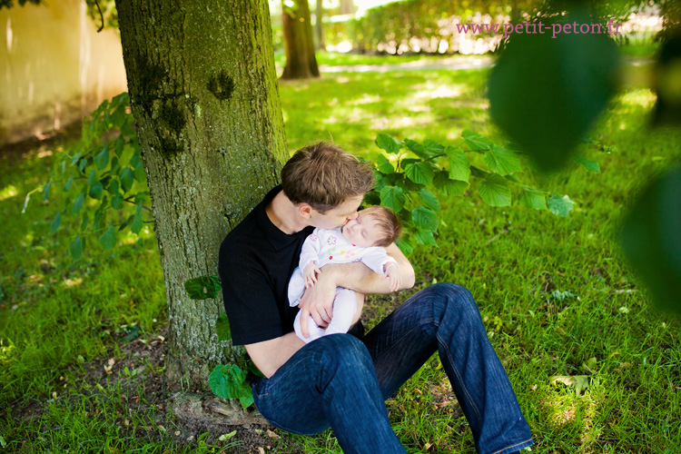
M384 206L374 205L358 213L342 228L346 240L361 247L386 247L400 238L402 225L397 214Z

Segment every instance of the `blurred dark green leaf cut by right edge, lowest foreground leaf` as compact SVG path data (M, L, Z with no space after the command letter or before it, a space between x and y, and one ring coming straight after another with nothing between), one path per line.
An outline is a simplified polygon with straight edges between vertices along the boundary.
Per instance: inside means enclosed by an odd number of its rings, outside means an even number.
M627 214L622 243L656 305L681 313L681 168L646 188Z

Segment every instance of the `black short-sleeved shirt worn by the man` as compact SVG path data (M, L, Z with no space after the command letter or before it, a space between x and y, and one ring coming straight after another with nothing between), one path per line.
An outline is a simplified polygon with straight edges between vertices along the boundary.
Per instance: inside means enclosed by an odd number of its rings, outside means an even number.
M288 235L270 221L265 207L280 191L281 185L272 189L220 246L218 270L234 345L293 331L299 311L289 306L289 280L314 227Z

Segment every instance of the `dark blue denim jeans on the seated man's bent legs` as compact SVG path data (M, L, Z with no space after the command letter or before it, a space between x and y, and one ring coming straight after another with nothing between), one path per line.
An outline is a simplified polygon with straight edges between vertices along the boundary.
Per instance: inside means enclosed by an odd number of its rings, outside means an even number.
M253 398L280 429L314 434L331 426L346 454L404 453L385 400L435 351L480 454L532 444L478 306L468 290L450 283L419 291L361 340L332 334L310 342L270 379L253 382Z

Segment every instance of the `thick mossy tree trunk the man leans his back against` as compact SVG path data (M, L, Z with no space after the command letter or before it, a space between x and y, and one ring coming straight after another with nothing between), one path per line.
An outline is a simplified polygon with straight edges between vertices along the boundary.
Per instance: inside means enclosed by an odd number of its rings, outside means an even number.
M222 295L183 283L217 274L229 232L288 158L267 0L116 0L128 89L168 299L166 370L206 389L241 349L218 342Z

